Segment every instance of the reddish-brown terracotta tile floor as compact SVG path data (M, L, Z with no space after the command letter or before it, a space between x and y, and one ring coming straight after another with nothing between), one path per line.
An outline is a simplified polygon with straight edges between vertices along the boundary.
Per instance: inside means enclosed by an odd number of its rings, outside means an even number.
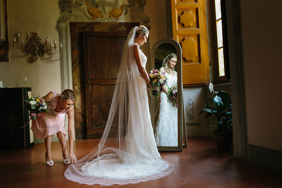
M75 140L78 159L88 154L98 139ZM84 188L106 187L72 182L64 177L68 165L62 161L59 142L51 146L53 166L44 161L44 143L29 149L0 151L0 187L3 188ZM163 178L138 184L112 185L112 188L282 188L282 173L236 159L231 150L219 150L214 138L188 138L183 152L160 152L175 170Z

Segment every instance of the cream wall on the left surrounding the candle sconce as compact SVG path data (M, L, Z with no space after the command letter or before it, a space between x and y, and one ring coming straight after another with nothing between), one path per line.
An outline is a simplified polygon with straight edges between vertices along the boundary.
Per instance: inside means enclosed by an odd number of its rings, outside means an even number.
M13 55L13 37L17 39L20 32L20 40L26 41L26 31L30 37L33 32L45 43L57 40L58 33L55 29L56 20L60 15L57 1L37 0L9 0L8 1L8 34L9 34L9 62L1 62L0 80L4 87L32 87L32 93L44 96L51 90L60 91L60 61L50 62L39 60L31 62L31 55L17 57ZM54 43L54 42L53 42ZM24 78L27 77L27 84Z

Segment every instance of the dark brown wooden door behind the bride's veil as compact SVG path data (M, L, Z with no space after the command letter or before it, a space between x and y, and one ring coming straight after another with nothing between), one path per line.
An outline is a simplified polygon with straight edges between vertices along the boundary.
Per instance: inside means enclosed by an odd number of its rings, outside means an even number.
M101 138L104 132L127 32L83 33L87 139ZM116 136L118 118L109 136Z

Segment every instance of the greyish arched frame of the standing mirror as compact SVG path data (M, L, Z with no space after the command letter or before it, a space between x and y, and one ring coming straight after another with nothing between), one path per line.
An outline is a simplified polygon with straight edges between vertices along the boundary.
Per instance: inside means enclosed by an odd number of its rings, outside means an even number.
M170 43L175 46L177 51L177 57L182 57L182 51L180 44L171 38L160 39L158 42L154 44L151 49L150 53L150 70L155 67L155 51L159 47L159 45L164 43ZM177 58L177 83L178 84L178 91L177 91L177 122L178 122L178 144L177 146L157 146L159 151L182 151L183 148L187 147L187 136L186 136L186 125L185 125L185 116L184 116L184 106L183 106L183 86L182 86L182 58ZM181 75L181 76L179 76ZM154 107L155 107L155 100L154 98L150 97L150 113L151 113L151 121L153 128L155 130L155 120L154 120ZM183 145L183 137L184 145Z

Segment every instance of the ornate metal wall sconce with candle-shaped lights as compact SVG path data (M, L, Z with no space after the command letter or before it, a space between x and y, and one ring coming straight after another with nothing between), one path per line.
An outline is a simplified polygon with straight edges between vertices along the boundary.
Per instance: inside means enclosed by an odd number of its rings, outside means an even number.
M13 38L13 55L19 56L19 57L26 57L29 54L31 54L31 59L32 61L36 62L38 60L39 56L43 56L44 59L48 60L48 61L58 61L62 58L62 43L60 44L60 58L55 57L55 60L52 59L53 55L57 53L56 50L56 40L54 40L54 47L53 47L53 42L50 42L50 48L48 49L48 40L49 38L46 38L46 43L45 46L43 44L41 44L40 42L40 37L37 36L38 34L36 33L36 31L34 32L34 37L33 38L29 38L29 31L26 32L27 34L27 38L26 38L26 42L24 43L24 39L22 39L22 45L20 44L20 40L19 40L19 32L18 32L18 39L16 40L16 38ZM16 44L17 41L17 44ZM17 50L15 49L21 49L20 50L20 54L18 53ZM54 49L54 51L53 51ZM48 57L45 57L45 54L48 55Z

